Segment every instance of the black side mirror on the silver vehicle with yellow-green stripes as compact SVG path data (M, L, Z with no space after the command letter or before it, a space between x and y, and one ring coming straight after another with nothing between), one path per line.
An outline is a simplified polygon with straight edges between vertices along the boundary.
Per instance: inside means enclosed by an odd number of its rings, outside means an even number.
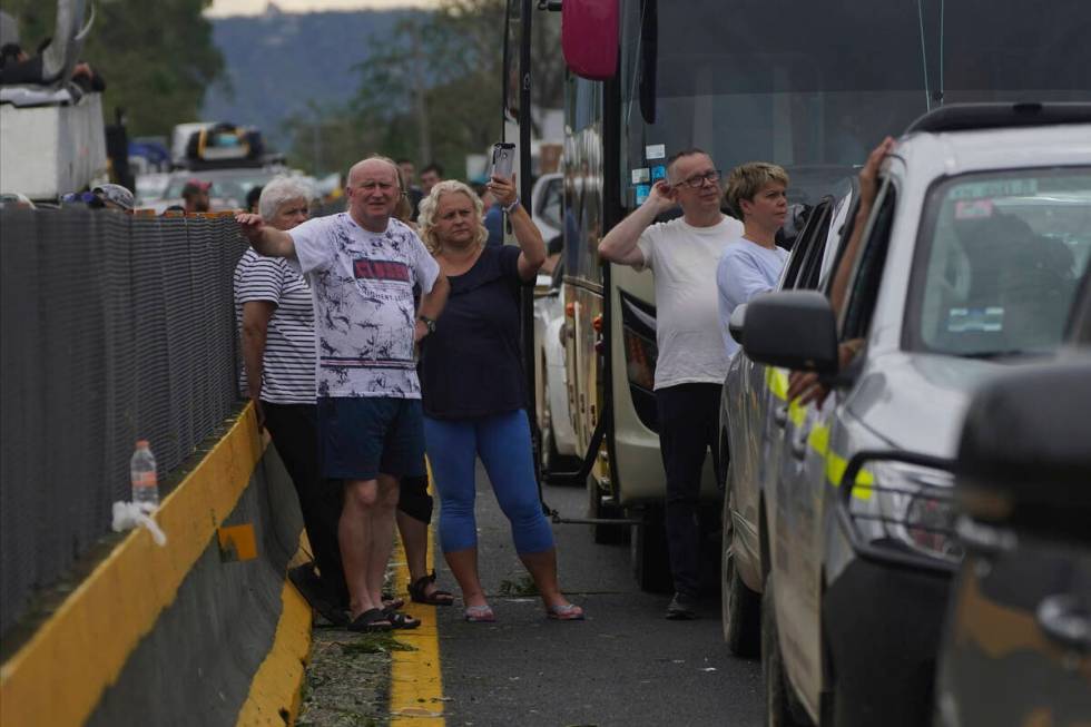
M816 291L755 296L746 306L743 351L758 363L819 374L837 373L837 322Z

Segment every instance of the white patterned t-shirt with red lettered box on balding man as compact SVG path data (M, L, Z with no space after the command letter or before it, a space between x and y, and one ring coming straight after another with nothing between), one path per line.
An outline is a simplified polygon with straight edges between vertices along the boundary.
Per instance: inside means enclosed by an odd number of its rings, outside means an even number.
M288 230L314 295L318 396L420 399L413 287L430 293L440 265L391 218L371 233L348 213Z

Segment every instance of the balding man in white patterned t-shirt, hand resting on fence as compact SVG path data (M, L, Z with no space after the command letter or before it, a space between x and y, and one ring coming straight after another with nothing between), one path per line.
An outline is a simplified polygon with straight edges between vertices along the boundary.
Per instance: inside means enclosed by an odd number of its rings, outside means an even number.
M393 161L357 163L345 191L348 212L288 232L257 215L236 219L257 252L288 258L311 285L323 475L345 481L338 540L348 628L414 628L416 619L384 610L382 587L399 480L423 474L413 346L434 328L449 284L416 234L392 217L402 195ZM419 310L414 287L422 293Z

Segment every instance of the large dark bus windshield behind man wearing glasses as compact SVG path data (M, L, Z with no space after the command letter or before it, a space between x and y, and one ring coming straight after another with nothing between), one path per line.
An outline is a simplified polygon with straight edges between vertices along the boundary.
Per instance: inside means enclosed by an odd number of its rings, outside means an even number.
M729 9L728 9L729 4ZM886 135L941 104L1091 100L1085 0L623 3L622 206L678 150L754 160L814 204ZM877 30L879 29L879 30Z

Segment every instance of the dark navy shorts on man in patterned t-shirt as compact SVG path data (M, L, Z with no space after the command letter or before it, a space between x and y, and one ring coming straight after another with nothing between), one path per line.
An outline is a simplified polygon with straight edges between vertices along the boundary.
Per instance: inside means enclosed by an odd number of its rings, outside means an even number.
M424 474L424 417L420 399L318 397L322 474L374 480Z

